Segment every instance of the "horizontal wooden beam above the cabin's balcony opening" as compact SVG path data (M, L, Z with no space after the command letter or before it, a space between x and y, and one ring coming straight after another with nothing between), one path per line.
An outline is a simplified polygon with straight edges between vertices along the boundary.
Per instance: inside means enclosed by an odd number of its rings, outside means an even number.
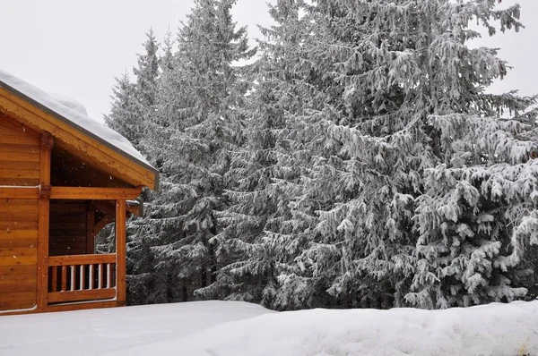
M142 188L52 187L50 199L136 199Z

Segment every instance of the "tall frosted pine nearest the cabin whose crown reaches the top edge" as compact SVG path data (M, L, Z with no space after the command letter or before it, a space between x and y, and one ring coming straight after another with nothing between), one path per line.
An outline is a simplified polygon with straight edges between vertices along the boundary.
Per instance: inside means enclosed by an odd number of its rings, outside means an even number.
M170 283L195 288L211 284L216 261L212 237L219 232L213 211L226 204L224 176L230 152L241 144L242 107L249 87L244 69L235 65L254 55L246 28L236 30L230 0L195 1L180 28L178 52L167 61L159 81L157 138L143 143L161 169L161 198L152 225L157 269ZM186 297L183 297L184 299Z

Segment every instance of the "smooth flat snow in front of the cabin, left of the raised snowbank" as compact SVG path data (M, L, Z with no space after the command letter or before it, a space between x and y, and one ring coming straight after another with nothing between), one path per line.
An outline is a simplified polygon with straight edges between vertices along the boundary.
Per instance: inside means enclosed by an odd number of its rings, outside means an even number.
M140 344L267 312L255 304L201 301L0 317L0 355L129 355Z

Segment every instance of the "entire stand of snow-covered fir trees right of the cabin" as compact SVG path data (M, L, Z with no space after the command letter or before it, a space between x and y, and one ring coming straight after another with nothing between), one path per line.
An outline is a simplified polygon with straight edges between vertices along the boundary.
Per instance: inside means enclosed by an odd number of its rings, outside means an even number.
M115 89L109 123L162 177L129 225L136 302L197 289L273 309L432 309L528 295L535 98L490 94L508 65L469 45L476 21L518 30L518 6L278 0L260 58L241 67L254 52L233 4L195 1L160 69L139 57L154 81Z

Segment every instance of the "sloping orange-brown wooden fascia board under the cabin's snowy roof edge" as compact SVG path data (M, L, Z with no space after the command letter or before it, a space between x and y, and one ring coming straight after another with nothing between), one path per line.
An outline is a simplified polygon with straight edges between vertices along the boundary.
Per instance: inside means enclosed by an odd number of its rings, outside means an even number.
M155 188L156 175L152 170L3 88L0 88L0 109L35 131L55 132L59 145L78 152L108 173L133 185Z

